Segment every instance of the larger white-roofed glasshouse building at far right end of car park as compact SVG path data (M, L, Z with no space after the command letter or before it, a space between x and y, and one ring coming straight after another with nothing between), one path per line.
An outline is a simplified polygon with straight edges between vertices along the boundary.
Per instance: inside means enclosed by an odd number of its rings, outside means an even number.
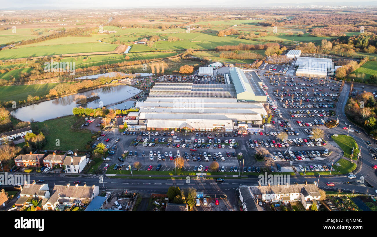
M331 59L318 57L297 57L294 65L297 66L296 76L300 77L326 78L334 68Z

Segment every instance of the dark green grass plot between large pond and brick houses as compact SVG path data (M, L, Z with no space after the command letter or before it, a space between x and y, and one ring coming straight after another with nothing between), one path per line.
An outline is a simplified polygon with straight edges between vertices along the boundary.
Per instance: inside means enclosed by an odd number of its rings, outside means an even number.
M78 149L78 151L84 151L84 146L91 140L93 134L89 130L71 131L71 125L74 124L77 119L77 117L72 115L44 122L36 122L31 124L31 126L33 131L38 130L36 127L38 126L46 136L47 144L43 149L62 151ZM45 130L46 126L48 132ZM56 145L57 139L59 139L60 143L58 146Z

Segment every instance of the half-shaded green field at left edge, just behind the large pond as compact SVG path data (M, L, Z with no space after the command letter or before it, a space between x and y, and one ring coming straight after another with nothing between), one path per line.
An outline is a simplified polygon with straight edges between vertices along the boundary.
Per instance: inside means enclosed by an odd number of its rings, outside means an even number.
M28 95L41 96L47 95L49 90L54 88L58 83L20 85L20 86L1 86L0 101L18 101L26 100Z

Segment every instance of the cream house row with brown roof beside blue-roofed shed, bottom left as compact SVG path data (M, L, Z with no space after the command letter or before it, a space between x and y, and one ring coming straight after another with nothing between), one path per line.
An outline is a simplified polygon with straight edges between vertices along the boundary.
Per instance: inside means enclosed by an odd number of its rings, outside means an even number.
M50 198L42 200L43 210L57 210L60 205L71 207L89 204L100 193L98 186L55 185Z

